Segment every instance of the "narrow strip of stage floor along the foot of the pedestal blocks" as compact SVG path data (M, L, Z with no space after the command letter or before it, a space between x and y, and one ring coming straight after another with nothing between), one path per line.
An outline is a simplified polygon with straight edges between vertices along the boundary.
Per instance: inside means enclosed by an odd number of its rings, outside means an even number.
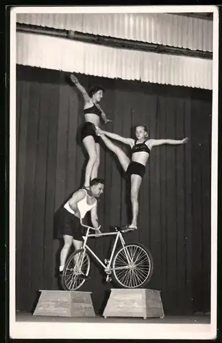
M151 323L151 324L210 324L210 316L165 316L164 318L103 318L95 316L93 318L70 318L70 317L52 317L52 316L33 316L30 313L16 312L16 322L112 322L112 323Z

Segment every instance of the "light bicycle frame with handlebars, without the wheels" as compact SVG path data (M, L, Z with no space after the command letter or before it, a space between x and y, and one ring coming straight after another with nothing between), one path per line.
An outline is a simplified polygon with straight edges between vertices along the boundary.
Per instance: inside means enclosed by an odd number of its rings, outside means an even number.
M124 241L124 239L123 239L122 233L121 233L120 231L116 231L116 232L113 232L113 233L112 233L112 232L111 232L111 233L99 233L99 237L116 235L116 239L115 239L115 241L114 241L114 246L113 246L113 248L112 248L112 252L111 252L111 255L110 255L110 259L109 259L108 264L106 265L106 264L103 263L103 261L101 261L101 259L99 259L99 257L97 257L97 255L95 254L95 252L93 252L93 250L91 250L91 249L89 248L89 246L86 244L86 242L87 242L87 240L88 240L88 237L98 237L98 234L90 234L90 230L98 230L101 226L99 226L99 228L96 229L96 228L93 228L93 227L91 227L91 226L84 225L84 224L82 223L82 219L80 219L80 223L81 223L81 225L82 225L83 227L87 228L86 235L83 236L84 244L83 244L82 248L84 249L84 254L85 254L86 250L88 250L88 251L90 252L90 254L93 255L93 257L95 257L95 259L97 259L97 261L98 261L99 264L104 268L105 271L107 271L107 270L108 270L108 271L112 270L110 267L111 267L112 259L113 259L113 256L114 256L114 252L115 252L115 250L116 250L116 244L117 244L117 242L118 242L119 239L120 239L120 241L121 241L121 244L122 244L122 246L123 246L123 249L125 248L125 241ZM125 250L125 255L126 255L126 257L127 257L127 262L130 263L130 257L129 257L129 255L128 255L127 250ZM82 257L82 261L83 261L83 260L84 260L84 255L83 255L83 257ZM82 263L81 263L81 265L82 265ZM118 268L118 269L123 269L123 267L122 267L122 268Z

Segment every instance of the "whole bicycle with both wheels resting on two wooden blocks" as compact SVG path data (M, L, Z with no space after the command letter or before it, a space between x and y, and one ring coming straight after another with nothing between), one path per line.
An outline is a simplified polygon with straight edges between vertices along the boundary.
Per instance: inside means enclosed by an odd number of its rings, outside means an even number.
M90 230L98 232L101 226L95 229L82 224L81 219L80 222L84 228L87 228L86 235L82 236L84 244L81 249L73 252L66 260L61 277L64 290L74 291L79 289L86 281L83 274L88 276L90 272L88 252L103 267L104 272L107 274L106 282L113 281L114 285L121 288L140 288L147 285L153 274L153 258L147 247L138 243L126 244L122 235L123 229L119 226L114 226L114 232L101 233L99 231L99 234L90 234ZM116 235L116 239L110 258L105 259L103 263L86 243L90 237L104 237L108 235ZM116 245L119 240L121 241L121 247L116 251Z

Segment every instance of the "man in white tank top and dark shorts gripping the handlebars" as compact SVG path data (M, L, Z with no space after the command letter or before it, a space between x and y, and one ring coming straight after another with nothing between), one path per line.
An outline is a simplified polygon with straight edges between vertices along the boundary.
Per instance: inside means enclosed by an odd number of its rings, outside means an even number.
M73 244L75 250L82 248L82 226L79 218L85 217L90 211L94 228L99 228L97 215L97 199L103 194L104 180L94 178L90 182L90 189L78 189L73 196L58 210L58 238L64 239L64 246L60 253L60 274L64 269L66 257Z

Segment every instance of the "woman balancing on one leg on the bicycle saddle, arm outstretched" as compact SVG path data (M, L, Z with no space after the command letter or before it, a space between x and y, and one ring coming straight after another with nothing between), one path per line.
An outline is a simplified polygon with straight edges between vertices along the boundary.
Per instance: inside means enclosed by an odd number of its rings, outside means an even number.
M144 125L136 126L136 141L131 138L121 137L119 134L106 132L100 128L97 128L96 132L106 146L116 154L123 170L126 172L127 176L130 177L132 222L130 225L125 226L125 228L126 230L135 230L137 228L138 217L138 193L152 147L162 144L184 144L188 141L188 138L184 138L182 140L148 139L147 127ZM125 154L125 152L123 152L120 147L112 143L112 141L107 137L130 145L132 148L132 160L130 161L130 158Z

